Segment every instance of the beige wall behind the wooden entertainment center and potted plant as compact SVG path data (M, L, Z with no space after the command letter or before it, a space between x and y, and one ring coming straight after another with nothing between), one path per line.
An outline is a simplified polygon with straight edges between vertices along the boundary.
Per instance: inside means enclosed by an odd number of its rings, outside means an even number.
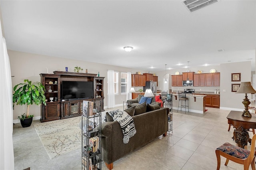
M10 66L12 73L12 88L18 83L23 83L24 79L29 79L30 81L41 81L40 73L52 73L53 71L65 71L65 67L68 67L68 71L72 72L74 67L82 67L85 73L85 69L88 69L88 73L98 73L100 72L100 77L106 77L104 79L104 106L107 103L107 71L114 70L119 72L119 79L121 77L121 72L131 72L136 73L140 71L141 73L146 73L144 70L135 70L127 67L118 67L114 65L105 65L99 63L92 63L86 61L78 61L73 59L65 59L60 57L51 57L46 55L38 55L32 53L24 53L20 51L8 50L8 55L10 58ZM143 88L142 88L143 89ZM119 83L119 92L121 91L121 85ZM115 96L116 105L123 105L123 101L126 101L126 95L116 95ZM18 116L26 112L26 106L16 105L13 112L14 120ZM34 114L35 119L40 119L40 107L32 105L30 107L30 114Z

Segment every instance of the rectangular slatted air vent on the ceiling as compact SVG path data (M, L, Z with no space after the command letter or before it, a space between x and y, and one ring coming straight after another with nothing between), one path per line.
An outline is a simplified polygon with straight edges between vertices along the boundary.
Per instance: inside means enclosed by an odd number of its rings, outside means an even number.
M206 6L212 5L218 0L184 0L183 1L190 12L194 12Z

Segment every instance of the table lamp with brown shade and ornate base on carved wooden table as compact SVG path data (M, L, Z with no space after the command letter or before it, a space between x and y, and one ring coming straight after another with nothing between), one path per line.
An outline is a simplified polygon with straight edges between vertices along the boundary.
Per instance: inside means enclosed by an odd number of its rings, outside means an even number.
M244 111L242 113L242 116L244 117L252 117L250 112L248 111L248 106L250 105L250 100L247 98L247 93L256 93L256 91L252 88L251 82L241 82L240 87L236 93L245 93L245 98L242 103L244 104Z

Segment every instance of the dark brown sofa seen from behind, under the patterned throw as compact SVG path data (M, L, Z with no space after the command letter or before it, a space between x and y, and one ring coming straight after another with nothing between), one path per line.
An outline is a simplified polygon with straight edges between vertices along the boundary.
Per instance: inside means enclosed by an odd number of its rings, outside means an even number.
M162 134L166 136L169 109L161 108L136 115L136 112L140 112L138 108L141 110L141 107L137 107L135 116L132 116L137 132L130 138L128 144L123 142L122 130L117 121L102 123L102 160L110 170L113 168L114 161ZM152 107L149 109L147 107L147 110L150 109L152 110Z

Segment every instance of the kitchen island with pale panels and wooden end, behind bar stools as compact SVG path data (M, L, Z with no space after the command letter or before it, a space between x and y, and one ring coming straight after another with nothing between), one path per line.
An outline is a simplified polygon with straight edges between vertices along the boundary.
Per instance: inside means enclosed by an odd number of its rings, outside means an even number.
M178 94L172 92L173 95L173 109L178 109L179 104L179 96ZM189 112L194 113L201 113L203 114L205 112L205 97L206 95L194 95L194 94L186 94L186 97L188 97L188 107ZM188 109L188 108L186 108ZM185 111L185 108L181 108L182 111ZM179 107L180 111L180 107ZM187 110L186 110L187 111Z

